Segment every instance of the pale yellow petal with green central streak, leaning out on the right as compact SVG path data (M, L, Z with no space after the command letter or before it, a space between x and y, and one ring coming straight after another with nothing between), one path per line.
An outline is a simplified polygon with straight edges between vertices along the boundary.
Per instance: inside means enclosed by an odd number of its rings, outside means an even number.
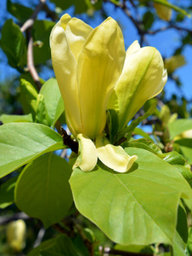
M161 92L166 82L167 71L157 49L144 47L133 55L129 55L127 50L124 67L109 104L109 108L113 108L114 104L118 112L119 130L127 125L147 100Z

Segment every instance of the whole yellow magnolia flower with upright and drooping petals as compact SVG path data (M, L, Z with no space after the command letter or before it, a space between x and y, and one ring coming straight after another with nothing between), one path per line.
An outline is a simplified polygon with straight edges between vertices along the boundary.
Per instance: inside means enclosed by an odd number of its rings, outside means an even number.
M110 17L93 29L63 15L51 32L50 46L67 125L79 143L73 168L89 172L99 157L116 172L127 172L138 157L104 137L106 110L116 110L121 130L144 102L161 92L167 72L160 53L140 49L137 41L126 52L121 29Z

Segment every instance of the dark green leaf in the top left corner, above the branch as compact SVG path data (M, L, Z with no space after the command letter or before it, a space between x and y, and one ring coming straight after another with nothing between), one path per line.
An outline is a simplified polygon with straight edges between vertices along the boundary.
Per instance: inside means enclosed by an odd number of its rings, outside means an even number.
M19 3L12 3L10 0L7 0L7 9L11 15L14 15L21 23L24 23L25 20L28 20L33 13L33 9L25 7Z

